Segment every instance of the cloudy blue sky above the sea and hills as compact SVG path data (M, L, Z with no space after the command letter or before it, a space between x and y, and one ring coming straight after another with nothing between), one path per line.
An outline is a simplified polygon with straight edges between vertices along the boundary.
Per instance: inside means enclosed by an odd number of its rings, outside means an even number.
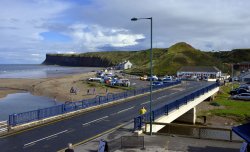
M46 53L250 48L249 0L1 0L0 64L40 64Z

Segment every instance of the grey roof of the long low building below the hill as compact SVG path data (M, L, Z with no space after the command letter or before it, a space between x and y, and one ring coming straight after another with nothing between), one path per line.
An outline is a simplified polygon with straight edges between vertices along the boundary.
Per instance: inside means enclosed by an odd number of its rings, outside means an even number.
M183 66L178 72L220 72L215 66Z

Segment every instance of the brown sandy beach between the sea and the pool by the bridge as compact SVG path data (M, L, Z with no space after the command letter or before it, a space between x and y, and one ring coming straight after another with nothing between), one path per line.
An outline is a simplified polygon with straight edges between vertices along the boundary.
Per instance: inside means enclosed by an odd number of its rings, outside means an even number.
M105 95L106 86L95 82L88 82L89 77L94 77L95 72L75 74L57 78L43 79L0 79L0 98L10 93L28 91L33 95L47 96L57 101L79 101L93 98L96 95ZM75 87L77 94L70 93L70 88ZM93 89L95 88L95 94ZM89 94L87 94L89 90ZM108 92L122 92L124 90L108 87Z

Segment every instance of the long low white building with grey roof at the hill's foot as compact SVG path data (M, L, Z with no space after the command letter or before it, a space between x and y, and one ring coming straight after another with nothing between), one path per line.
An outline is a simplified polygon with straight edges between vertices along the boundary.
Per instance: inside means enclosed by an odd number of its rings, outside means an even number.
M221 71L215 66L184 66L177 71L177 77L216 79Z

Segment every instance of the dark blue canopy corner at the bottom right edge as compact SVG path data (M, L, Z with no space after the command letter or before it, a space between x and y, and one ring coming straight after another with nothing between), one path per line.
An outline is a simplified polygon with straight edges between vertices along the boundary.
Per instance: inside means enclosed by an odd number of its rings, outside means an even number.
M232 130L246 142L250 143L250 123L233 127Z

